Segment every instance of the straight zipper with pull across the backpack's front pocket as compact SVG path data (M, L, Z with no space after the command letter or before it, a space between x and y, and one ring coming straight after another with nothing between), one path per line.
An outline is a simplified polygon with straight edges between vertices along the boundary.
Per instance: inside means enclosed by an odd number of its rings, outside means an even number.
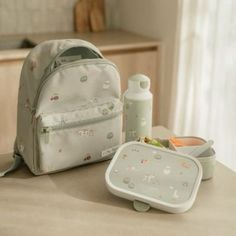
M113 114L104 115L104 116L92 118L92 119L89 119L89 120L74 121L74 122L70 122L70 123L67 123L67 124L59 124L59 125L52 125L52 126L44 126L41 129L41 134L44 135L45 143L48 144L49 141L50 141L50 133L51 132L76 128L78 126L91 124L93 122L105 121L105 120L114 118L114 117L120 115L121 113L122 113L122 111L118 111L118 112L113 113Z

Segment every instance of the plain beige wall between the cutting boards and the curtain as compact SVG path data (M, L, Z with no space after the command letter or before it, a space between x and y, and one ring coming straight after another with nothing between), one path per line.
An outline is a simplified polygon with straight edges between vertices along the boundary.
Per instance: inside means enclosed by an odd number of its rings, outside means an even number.
M163 41L163 71L158 81L158 110L160 124L168 127L178 0L107 0L107 2L110 4L111 27L122 28Z

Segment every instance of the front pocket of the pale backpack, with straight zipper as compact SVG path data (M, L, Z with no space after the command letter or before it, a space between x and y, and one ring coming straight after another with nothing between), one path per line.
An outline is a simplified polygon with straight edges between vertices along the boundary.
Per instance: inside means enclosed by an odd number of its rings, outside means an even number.
M35 167L39 174L56 172L109 158L121 144L122 103L94 99L74 111L37 118Z

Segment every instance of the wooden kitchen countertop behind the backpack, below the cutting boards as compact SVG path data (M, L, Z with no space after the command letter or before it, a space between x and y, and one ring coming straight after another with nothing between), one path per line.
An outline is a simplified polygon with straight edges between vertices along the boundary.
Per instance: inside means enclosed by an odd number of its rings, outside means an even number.
M78 38L95 44L102 53L120 49L146 49L158 47L156 39L136 35L123 30L107 30L99 33L43 33L1 36L1 40L27 38L35 44L52 39ZM0 61L24 59L30 49L1 50Z

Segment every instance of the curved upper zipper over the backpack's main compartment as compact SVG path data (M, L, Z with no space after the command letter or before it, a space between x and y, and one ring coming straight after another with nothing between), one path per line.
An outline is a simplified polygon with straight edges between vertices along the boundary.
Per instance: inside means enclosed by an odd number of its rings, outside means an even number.
M74 66L81 66L81 65L90 65L90 64L109 64L111 66L113 66L116 70L117 70L117 67L115 64L113 64L112 62L106 60L106 59L103 59L103 58L97 58L97 59L83 59L83 60L80 60L80 61L74 61L74 62L71 62L71 63L66 63L66 64L62 64L58 67L56 67L54 70L52 70L49 74L44 74L42 79L41 79L41 83L37 89L37 92L36 92L36 96L34 98L34 102L33 102L33 106L31 108L32 110L32 115L35 115L36 113L36 108L37 108L37 105L38 105L38 98L39 98L39 95L40 95L40 92L43 88L43 86L45 85L45 83L55 74L57 73L58 71L62 70L62 69L68 69L68 68L72 68Z

